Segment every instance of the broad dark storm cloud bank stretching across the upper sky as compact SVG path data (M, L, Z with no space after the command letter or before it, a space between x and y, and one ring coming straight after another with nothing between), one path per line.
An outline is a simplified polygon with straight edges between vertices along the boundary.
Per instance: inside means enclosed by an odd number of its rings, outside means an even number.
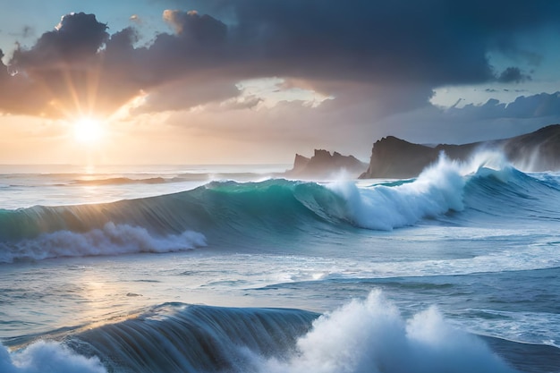
M222 99L234 92L235 81L267 76L310 81L336 97L330 106L376 94L379 107L406 110L425 105L437 86L529 79L517 66L497 72L488 52L521 50L517 35L558 27L560 19L560 3L547 0L195 4L208 14L165 11L174 32L158 34L148 47L135 47L133 29L110 36L93 14L70 14L35 46L18 48L11 64L46 103L69 101L69 81L79 97L88 97L91 87L83 87L93 76L98 102L108 111L140 89L153 93L147 109L164 110ZM389 94L379 96L383 91ZM165 97L173 97L173 105L165 105ZM14 109L2 101L0 110Z

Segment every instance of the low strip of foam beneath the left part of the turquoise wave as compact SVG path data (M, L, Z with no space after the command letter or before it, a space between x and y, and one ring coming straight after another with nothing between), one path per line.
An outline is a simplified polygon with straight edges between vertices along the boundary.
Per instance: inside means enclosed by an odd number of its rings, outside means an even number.
M206 246L202 233L185 231L181 234L155 236L145 228L107 223L87 233L58 231L44 233L33 240L0 243L0 263L18 259L49 259L118 255L137 252L170 252Z

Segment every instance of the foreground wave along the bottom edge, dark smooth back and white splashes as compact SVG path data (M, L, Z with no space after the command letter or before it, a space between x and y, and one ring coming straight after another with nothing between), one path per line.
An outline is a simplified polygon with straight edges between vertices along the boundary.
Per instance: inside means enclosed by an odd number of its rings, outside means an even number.
M320 316L298 309L166 303L115 324L84 326L41 339L14 352L0 345L2 371L517 371L481 338L447 324L437 309L406 319L379 291ZM491 342L500 350L499 340ZM535 352L514 344L515 349L504 351ZM540 371L555 363L555 354L550 356L551 361L540 359ZM526 356L525 364L528 360L534 359Z

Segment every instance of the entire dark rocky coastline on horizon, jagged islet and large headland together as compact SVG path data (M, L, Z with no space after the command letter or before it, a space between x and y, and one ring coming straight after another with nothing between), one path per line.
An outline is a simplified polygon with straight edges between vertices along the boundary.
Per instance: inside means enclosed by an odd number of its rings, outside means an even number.
M512 138L462 145L427 146L387 136L373 144L369 165L353 156L316 149L313 157L296 154L293 168L278 176L328 180L344 173L349 178L405 179L418 176L426 166L437 161L441 152L451 159L466 161L482 149L501 151L522 171L558 171L560 124Z

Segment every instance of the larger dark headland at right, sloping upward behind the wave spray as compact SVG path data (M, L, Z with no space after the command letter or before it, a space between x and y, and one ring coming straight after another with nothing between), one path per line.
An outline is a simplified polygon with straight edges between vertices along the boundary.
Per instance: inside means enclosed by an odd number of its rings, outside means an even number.
M360 179L411 178L434 163L444 151L447 157L467 160L478 149L503 151L505 157L523 171L560 170L560 124L552 124L524 135L463 145L439 144L430 147L387 136L373 144L367 171Z

